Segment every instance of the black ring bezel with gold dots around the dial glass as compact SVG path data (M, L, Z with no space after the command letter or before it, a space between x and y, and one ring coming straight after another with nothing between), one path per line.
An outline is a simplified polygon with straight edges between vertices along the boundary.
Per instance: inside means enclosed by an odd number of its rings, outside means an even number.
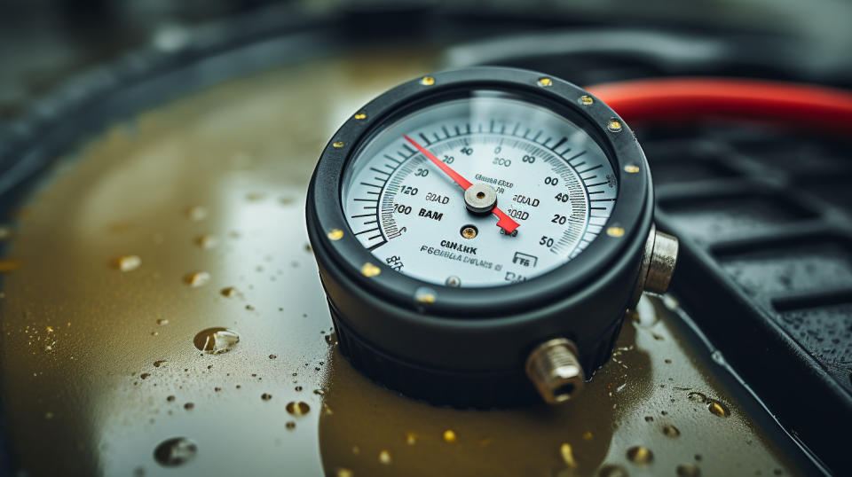
M314 219L319 227L316 237L322 241L323 248L327 249L339 268L355 283L398 306L414 310L423 310L424 306L414 301L417 289L430 287L435 290L437 300L428 304L428 313L439 317L505 316L564 299L566 295L603 275L631 242L639 236L644 239L651 226L650 214L645 210L651 192L647 161L633 132L609 106L594 97L591 105L583 105L580 98L591 95L578 86L546 74L515 68L482 66L433 74L430 77L434 82L422 82L418 78L373 99L358 112L366 115L364 119L351 116L329 141L314 172L308 207L309 215L311 207L315 207ZM540 83L543 77L549 79L547 86ZM593 137L610 160L619 184L615 205L604 229L618 225L624 229L624 234L611 237L603 231L571 261L538 277L512 285L469 288L436 285L407 276L377 260L353 235L343 214L343 171L356 157L361 146L389 121L410 113L413 108L434 104L430 99L446 98L448 94L463 90L506 91L520 98L528 98L575 122ZM607 129L613 119L621 125L617 132ZM335 147L335 143L343 143L343 146ZM628 165L638 167L639 170L625 173ZM334 240L328 238L327 232L335 229L343 231L343 237ZM321 253L319 250L317 252ZM367 262L378 267L380 273L371 277L361 273Z

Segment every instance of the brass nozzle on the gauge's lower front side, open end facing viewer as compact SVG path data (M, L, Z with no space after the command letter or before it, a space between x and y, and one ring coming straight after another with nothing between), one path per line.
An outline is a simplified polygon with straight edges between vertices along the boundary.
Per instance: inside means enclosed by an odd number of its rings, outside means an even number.
M541 343L526 358L526 375L548 404L564 403L583 388L583 368L571 340Z

